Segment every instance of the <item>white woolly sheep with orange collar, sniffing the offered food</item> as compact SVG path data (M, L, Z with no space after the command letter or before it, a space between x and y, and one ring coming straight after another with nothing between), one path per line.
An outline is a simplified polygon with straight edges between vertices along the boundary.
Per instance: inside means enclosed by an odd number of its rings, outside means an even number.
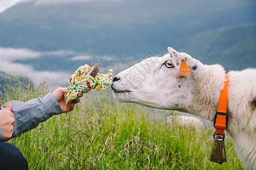
M179 75L182 61L187 62L191 76ZM145 59L115 76L112 90L121 102L187 112L213 121L224 76L221 65L203 65L168 47L163 57ZM256 169L256 69L230 71L229 80L226 131L243 167Z

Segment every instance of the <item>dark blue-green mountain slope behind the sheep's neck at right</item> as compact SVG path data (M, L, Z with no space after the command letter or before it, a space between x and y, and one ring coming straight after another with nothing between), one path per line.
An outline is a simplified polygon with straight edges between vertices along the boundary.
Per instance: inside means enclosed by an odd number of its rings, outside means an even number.
M256 66L255 42L256 24L245 24L199 33L185 40L181 49L208 65L241 70Z

